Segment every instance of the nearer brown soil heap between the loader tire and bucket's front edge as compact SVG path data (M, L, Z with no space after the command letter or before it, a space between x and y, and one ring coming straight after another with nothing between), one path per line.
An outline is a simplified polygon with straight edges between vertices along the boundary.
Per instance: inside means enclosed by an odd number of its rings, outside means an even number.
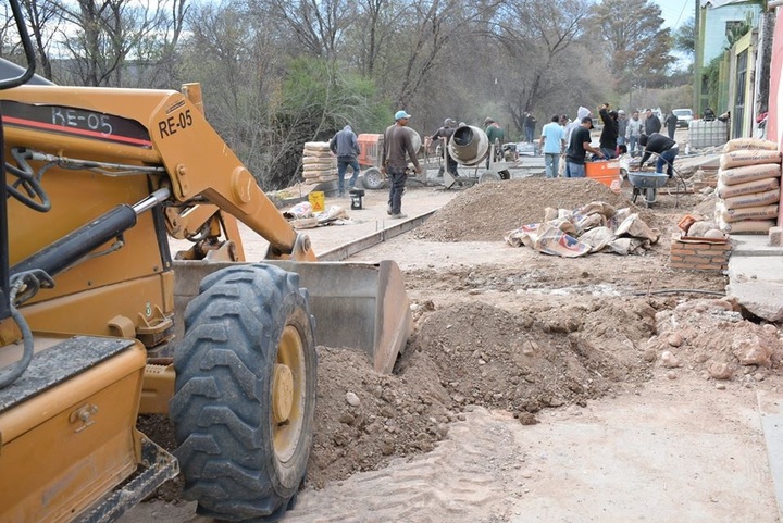
M362 352L319 347L311 486L432 450L455 419L447 403L437 373L427 365L409 375L378 374Z

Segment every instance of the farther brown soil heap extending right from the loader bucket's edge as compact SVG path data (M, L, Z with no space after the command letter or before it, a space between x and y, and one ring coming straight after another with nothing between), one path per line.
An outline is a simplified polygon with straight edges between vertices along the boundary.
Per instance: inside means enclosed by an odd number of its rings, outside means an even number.
M627 358L616 346L647 340L655 310L638 302L610 309L593 300L521 314L480 302L447 307L422 321L400 372L431 359L456 404L514 413L584 404L645 378L642 351ZM607 325L606 314L618 322Z

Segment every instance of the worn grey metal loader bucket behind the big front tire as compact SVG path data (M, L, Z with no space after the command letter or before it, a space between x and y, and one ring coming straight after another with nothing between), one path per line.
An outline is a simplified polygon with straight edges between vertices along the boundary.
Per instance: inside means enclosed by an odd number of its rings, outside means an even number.
M182 314L208 274L237 262L175 261L174 304L177 338ZM246 263L246 262L241 262ZM365 351L376 372L390 373L413 328L402 273L394 261L380 263L264 260L299 274L310 294L315 343Z

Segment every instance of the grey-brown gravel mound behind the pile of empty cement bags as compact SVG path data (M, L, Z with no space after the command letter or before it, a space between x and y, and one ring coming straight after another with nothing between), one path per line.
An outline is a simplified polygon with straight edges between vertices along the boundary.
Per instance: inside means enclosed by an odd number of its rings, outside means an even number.
M605 201L617 209L634 208L651 227L660 227L655 213L637 208L623 195L589 178L522 178L481 184L443 207L412 235L434 241L502 241L502 234L544 220L547 207L577 209Z

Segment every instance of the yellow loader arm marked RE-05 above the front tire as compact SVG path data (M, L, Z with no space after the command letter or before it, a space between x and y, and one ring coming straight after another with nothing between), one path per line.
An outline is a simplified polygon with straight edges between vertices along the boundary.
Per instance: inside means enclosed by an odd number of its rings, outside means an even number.
M269 259L314 261L310 241L299 235L261 190L201 113L200 105L177 91L58 86L24 86L3 94L3 122L11 141L46 132L51 154L69 151L95 155L96 144L104 161L136 161L163 165L178 213L167 213L174 237L191 234L202 223L219 222L226 235L241 244L229 214L270 242ZM200 103L200 96L196 97ZM28 140L29 141L29 140ZM40 144L40 140L36 140ZM158 188L158 187L156 187ZM214 204L215 212L206 204ZM184 217L183 217L184 220Z

